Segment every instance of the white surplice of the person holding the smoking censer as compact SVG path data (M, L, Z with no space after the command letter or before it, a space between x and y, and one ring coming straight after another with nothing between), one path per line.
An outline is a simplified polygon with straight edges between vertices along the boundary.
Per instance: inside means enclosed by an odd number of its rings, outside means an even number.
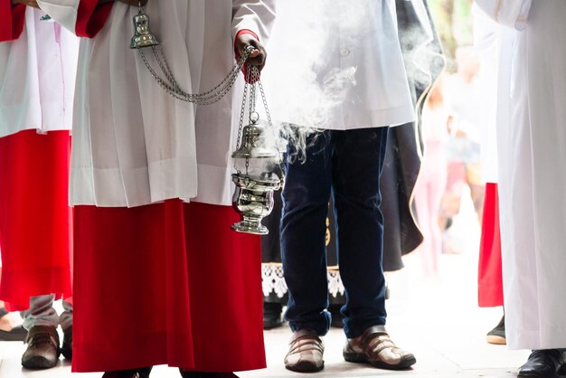
M38 3L75 30L79 0ZM150 0L146 14L180 86L199 93L231 70L235 33L250 29L267 41L274 4ZM136 14L137 6L116 2L102 30L81 42L71 204L132 207L169 198L231 204L232 123L240 108L232 108L231 94L194 107L162 90L129 49Z

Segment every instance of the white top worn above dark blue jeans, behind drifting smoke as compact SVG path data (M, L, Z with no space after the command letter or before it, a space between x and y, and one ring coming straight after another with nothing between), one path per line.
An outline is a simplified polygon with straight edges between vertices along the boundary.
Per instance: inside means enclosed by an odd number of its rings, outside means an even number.
M262 77L278 121L345 130L415 117L391 1L281 2Z

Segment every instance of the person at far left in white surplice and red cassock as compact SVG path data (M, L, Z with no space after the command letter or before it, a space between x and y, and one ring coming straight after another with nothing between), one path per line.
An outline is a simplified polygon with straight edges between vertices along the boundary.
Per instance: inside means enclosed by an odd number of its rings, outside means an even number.
M69 162L79 40L34 1L0 0L0 299L24 310L22 365L72 355ZM62 347L57 327L63 331Z

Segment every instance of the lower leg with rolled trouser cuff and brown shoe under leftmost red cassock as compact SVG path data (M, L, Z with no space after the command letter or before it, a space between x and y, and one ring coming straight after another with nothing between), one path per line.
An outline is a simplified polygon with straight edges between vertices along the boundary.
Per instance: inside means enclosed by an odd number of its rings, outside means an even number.
M59 315L53 308L54 295L30 298L30 307L22 311L24 328L28 330L27 349L22 365L27 369L47 369L59 359Z

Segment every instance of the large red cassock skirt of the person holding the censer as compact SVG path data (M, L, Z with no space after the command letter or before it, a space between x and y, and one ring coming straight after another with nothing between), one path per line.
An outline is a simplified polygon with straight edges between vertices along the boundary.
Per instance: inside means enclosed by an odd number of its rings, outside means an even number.
M259 237L231 207L75 207L73 372L265 367Z

